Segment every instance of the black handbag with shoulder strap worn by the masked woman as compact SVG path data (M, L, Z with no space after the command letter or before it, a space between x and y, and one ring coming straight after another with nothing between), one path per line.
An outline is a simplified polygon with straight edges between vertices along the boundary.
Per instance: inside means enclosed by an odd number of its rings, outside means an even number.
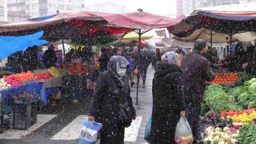
M115 92L114 93L117 94L118 91L116 89L116 84L115 84L113 79L112 79L112 81L113 81L113 84L114 84L114 87L115 87ZM122 104L119 96L117 96L117 98L118 98L118 101L119 101L119 104L120 104L119 105L120 110L119 110L119 116L118 116L119 124L121 126L124 126L124 127L129 127L131 125L132 119L133 119L132 111L131 111L131 108L129 107L129 103L126 102L126 103Z

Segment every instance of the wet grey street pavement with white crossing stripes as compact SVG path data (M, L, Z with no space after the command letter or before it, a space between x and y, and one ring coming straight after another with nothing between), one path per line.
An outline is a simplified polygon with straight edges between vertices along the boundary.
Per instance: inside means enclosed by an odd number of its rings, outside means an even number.
M139 84L139 99L136 105L136 84L131 88L131 96L137 113L131 127L125 129L125 144L145 144L144 131L152 112L152 79L154 69L148 67L146 84ZM134 78L137 82L136 78ZM37 116L37 123L28 130L8 130L0 134L0 144L77 144L83 117L88 115L90 100L78 103L59 103L46 106Z

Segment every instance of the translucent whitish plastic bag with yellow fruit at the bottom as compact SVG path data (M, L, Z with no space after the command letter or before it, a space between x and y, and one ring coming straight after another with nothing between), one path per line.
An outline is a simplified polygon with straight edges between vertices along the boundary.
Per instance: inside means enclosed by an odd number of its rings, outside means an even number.
M186 117L180 117L180 121L176 126L175 143L192 144L194 141L191 128Z

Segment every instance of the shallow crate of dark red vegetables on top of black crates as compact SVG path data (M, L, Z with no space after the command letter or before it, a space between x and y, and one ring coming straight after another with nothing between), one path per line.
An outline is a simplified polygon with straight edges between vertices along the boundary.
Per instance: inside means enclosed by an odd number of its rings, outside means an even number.
M30 99L28 99L28 94L25 95L25 99L13 99L13 98L10 98L9 99L9 103L11 103L11 104L28 105L28 104L31 104L32 102L37 102L41 98L41 95L36 97L36 93L35 92L33 92L33 96L34 96L34 98L30 98Z

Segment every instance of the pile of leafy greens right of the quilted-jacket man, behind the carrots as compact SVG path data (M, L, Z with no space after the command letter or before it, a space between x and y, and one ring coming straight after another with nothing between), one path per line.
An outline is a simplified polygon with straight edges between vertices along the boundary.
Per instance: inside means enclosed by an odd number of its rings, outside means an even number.
M211 84L204 93L205 104L208 105L214 113L221 111L239 111L243 110L240 103L236 103L236 97L228 95L223 91L221 85Z

